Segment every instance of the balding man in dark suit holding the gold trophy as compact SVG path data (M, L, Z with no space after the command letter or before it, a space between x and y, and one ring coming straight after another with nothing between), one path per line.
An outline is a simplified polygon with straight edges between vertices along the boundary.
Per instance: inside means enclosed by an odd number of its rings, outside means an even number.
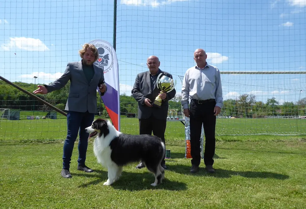
M160 94L160 89L156 87L156 79L160 73L172 78L170 73L166 73L159 69L160 62L156 56L147 58L148 71L139 73L136 77L132 96L138 102L138 119L139 119L139 134L149 134L158 136L165 143L165 130L168 115L168 101L172 99L176 91ZM161 107L152 106L155 98L160 94L162 99ZM166 153L165 153L166 155ZM161 162L163 168L167 169L165 160ZM143 162L140 162L136 168L144 168Z

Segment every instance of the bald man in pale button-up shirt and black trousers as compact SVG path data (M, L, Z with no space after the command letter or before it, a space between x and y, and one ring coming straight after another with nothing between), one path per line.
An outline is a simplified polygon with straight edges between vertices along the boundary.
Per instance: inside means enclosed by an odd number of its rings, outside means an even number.
M190 118L191 173L199 171L201 162L200 136L202 124L205 134L204 164L205 169L214 173L213 156L215 154L216 116L223 107L220 71L208 65L207 54L203 49L194 52L196 66L189 68L182 84L182 106L184 114ZM190 110L188 107L190 97Z

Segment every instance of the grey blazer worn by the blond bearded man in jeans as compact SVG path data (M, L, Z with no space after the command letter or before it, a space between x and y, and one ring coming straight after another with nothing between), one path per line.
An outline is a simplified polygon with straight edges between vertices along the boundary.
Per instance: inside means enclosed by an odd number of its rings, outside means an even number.
M93 66L95 74L90 83L88 83L83 72L82 61L77 61L69 62L62 77L44 86L49 93L63 88L70 80L70 90L65 110L97 113L97 87L104 83L104 75L102 68ZM104 93L101 95L104 95Z

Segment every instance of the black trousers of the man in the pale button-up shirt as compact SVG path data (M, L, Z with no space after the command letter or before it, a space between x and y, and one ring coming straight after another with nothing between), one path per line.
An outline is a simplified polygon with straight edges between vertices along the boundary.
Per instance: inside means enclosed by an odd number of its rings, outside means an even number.
M198 104L191 100L190 102L190 148L191 164L200 165L200 137L202 124L205 135L204 164L213 165L215 155L215 126L216 116L214 115L215 101Z

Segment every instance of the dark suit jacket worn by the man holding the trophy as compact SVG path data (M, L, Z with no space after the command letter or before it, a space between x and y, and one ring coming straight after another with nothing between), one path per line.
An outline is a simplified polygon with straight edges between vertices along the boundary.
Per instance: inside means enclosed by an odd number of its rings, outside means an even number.
M160 70L161 71L161 70ZM161 71L163 75L172 78L170 73ZM160 89L156 87L156 83L154 86L153 92L151 92L151 80L150 80L150 71L146 71L143 73L139 73L136 77L134 87L132 89L132 96L138 102L138 118L146 119L154 115L157 119L166 120L168 115L168 101L172 99L176 91L173 89L172 91L166 93L167 97L165 101L162 101L162 106L159 107L149 107L144 103L144 99L148 98L153 102L155 97L159 94Z

